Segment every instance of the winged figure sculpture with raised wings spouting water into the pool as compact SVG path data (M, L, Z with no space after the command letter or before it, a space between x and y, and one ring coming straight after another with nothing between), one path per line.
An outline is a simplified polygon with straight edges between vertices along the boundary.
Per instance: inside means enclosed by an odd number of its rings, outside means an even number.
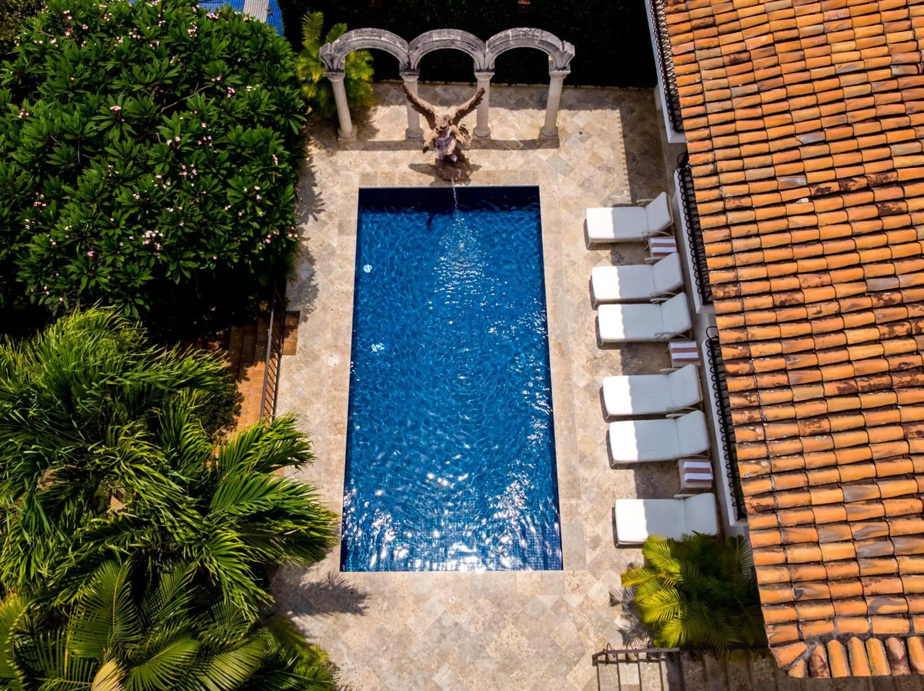
M468 177L468 160L463 149L471 146L471 133L460 122L471 113L484 98L484 89L478 89L468 101L450 108L447 113L437 117L436 109L431 103L421 99L416 93L404 86L407 101L415 111L423 115L431 131L423 141L423 152L436 151L436 174L444 180L464 180Z

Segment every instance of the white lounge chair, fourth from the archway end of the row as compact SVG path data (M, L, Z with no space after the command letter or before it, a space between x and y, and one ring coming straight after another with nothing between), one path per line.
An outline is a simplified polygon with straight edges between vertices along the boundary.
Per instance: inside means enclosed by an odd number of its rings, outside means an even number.
M669 375L603 377L603 406L610 417L692 408L702 400L699 372L687 364Z

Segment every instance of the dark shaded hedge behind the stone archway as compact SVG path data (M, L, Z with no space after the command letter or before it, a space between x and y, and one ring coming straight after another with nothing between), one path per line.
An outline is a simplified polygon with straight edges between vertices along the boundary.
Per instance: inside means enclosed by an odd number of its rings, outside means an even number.
M411 41L424 31L461 29L482 41L505 29L536 27L574 43L576 55L565 84L605 87L653 87L656 82L647 0L531 0L529 13L518 12L517 0L280 0L286 37L301 42L301 17L322 10L329 22L350 29L394 31ZM395 58L374 51L378 79L398 77ZM472 82L472 62L459 51L445 50L423 58L420 78ZM494 83L542 84L549 80L545 54L516 50L501 55Z

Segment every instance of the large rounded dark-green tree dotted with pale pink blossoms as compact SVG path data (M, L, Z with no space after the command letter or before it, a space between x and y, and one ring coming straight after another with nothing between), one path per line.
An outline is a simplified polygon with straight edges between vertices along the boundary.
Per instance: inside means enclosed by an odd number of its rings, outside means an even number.
M0 304L143 314L285 267L304 103L271 28L192 0L51 0L14 58Z

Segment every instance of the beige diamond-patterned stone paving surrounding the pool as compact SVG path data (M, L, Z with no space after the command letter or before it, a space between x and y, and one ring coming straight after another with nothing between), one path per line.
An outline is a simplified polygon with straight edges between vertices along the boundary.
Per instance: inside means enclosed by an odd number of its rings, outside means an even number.
M473 87L421 85L438 105ZM617 497L668 497L675 464L610 467L600 385L605 375L657 373L663 344L601 349L590 306L590 269L643 261L642 244L588 250L587 207L654 197L667 185L650 91L567 89L556 142L539 139L546 87L492 87L492 140L476 141L471 185L539 185L552 362L564 570L492 573L340 573L339 550L310 570L274 581L280 609L330 651L343 684L374 689L596 689L590 654L623 643L610 593L638 560L616 550ZM443 185L433 157L404 139L395 85L358 113L359 138L336 141L316 125L298 192L301 256L289 281L299 310L298 352L283 358L277 410L295 411L317 461L299 476L342 506L353 271L360 186ZM474 125L474 114L469 116ZM467 121L468 122L468 121Z

